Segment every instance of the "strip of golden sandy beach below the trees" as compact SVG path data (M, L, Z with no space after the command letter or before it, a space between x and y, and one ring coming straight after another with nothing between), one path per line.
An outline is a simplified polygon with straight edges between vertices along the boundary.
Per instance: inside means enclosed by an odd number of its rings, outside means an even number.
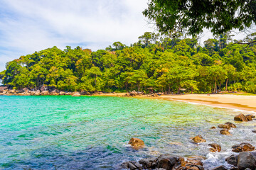
M124 96L126 93L102 94L102 96ZM191 103L200 103L210 106L225 108L235 108L244 111L255 111L256 96L242 96L235 94L184 94L184 95L161 95L158 97L136 96L137 98L162 98L169 101L183 101Z

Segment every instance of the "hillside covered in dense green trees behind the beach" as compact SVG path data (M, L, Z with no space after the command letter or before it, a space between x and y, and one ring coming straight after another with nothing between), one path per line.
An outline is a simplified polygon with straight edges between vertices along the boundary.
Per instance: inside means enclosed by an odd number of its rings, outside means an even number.
M0 78L13 89L256 93L255 43L228 43L228 38L220 35L201 47L197 38L147 32L129 47L121 42L96 52L52 47L8 62Z

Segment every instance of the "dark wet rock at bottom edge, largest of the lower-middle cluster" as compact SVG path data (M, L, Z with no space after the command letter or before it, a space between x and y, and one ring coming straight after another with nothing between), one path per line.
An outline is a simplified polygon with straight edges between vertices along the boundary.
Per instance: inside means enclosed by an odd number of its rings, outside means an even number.
M172 169L176 164L179 163L179 157L171 154L162 154L157 158L157 168Z

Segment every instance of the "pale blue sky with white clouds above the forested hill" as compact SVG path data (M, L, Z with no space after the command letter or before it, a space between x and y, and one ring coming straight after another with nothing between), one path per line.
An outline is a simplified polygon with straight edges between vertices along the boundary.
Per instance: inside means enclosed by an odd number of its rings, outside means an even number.
M6 62L54 45L99 50L154 31L142 15L147 0L0 1L0 71Z

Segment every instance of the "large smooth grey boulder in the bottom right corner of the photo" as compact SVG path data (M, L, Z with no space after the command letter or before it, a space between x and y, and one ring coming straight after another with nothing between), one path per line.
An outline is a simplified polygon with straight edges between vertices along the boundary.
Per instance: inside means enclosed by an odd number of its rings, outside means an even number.
M238 169L256 169L256 159L250 152L238 154Z

